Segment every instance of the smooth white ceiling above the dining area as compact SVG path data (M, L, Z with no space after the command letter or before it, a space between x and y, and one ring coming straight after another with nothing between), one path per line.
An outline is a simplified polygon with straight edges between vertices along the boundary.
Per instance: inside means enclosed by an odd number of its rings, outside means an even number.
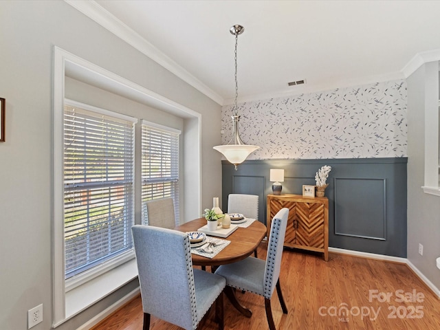
M220 104L234 98L234 24L245 28L239 101L406 78L417 54L440 50L440 1L90 3L128 27L132 44L149 47L138 49ZM306 85L287 85L302 79Z

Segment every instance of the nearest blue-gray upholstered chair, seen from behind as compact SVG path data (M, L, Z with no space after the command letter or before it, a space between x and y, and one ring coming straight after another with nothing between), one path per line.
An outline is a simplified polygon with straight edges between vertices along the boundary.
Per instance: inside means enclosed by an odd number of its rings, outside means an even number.
M143 329L149 329L151 315L184 329L197 329L216 302L216 320L222 330L225 278L192 268L188 235L151 225L134 225L132 232Z

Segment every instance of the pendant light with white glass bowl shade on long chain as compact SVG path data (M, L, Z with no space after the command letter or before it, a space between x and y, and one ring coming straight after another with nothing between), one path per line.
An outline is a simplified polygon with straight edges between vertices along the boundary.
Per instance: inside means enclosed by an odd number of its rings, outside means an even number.
M230 28L231 34L234 34L235 36L235 104L234 104L234 115L232 115L232 138L228 142L228 144L225 144L223 146L214 146L213 148L220 153L223 154L223 156L228 159L228 162L234 164L235 170L236 166L238 164L241 164L245 161L245 159L256 149L260 148L259 146L252 146L249 144L244 144L243 141L241 141L240 135L239 135L239 120L240 116L238 114L239 108L236 105L236 99L239 96L239 84L236 79L236 46L239 41L239 34L242 34L245 28L241 25L234 25L232 28Z

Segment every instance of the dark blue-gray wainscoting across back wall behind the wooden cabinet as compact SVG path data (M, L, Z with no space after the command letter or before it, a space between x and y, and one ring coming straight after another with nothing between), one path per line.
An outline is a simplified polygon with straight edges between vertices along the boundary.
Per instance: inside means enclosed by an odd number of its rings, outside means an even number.
M282 194L302 194L315 185L315 173L331 166L325 190L329 199L329 246L406 258L406 157L355 159L247 160L234 170L222 162L222 210L230 193L259 195L260 221L272 194L270 168L284 168Z

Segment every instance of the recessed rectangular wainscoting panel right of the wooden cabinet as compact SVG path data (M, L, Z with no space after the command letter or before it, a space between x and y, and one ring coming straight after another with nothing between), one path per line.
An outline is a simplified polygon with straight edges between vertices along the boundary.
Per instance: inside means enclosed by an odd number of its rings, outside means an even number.
M386 180L333 179L335 234L386 240Z

